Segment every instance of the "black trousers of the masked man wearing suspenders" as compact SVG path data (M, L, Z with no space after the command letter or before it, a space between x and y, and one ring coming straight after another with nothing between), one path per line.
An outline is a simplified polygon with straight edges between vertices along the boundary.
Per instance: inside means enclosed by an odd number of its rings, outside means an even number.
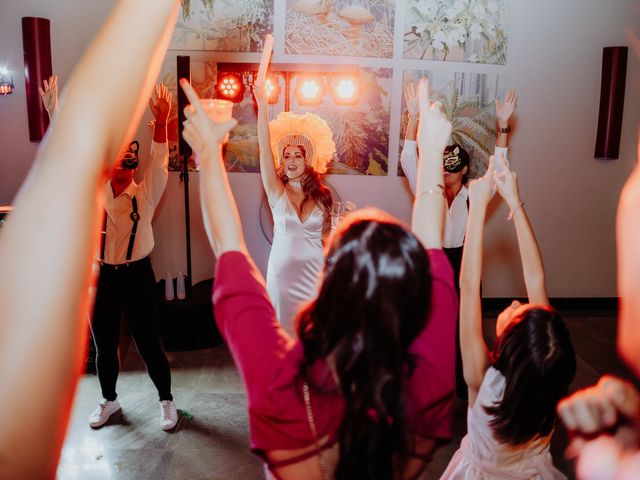
M105 264L100 267L91 332L96 345L100 388L107 400L117 397L122 312L160 400L173 400L169 362L160 343L156 280L149 257L128 266Z

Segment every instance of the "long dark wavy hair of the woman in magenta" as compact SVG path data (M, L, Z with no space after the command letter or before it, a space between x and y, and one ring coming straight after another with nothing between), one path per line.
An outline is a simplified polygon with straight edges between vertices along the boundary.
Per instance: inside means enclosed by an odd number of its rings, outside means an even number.
M301 373L335 362L345 400L336 479L388 479L408 448L403 378L429 310L429 259L413 233L377 210L349 215L332 236L317 298L297 318Z

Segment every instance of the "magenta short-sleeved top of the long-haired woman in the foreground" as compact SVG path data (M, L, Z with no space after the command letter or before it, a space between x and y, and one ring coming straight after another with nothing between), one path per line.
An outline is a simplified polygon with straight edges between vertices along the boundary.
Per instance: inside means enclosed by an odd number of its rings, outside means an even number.
M458 298L451 265L442 250L428 251L432 275L429 319L411 351L416 367L407 382L407 419L422 437L449 438L454 398L455 330ZM214 314L247 390L251 448L268 450L314 444L299 373L302 344L282 329L251 259L226 252L218 259L213 287ZM324 361L310 372L322 390L311 392L318 438L337 440L344 400Z

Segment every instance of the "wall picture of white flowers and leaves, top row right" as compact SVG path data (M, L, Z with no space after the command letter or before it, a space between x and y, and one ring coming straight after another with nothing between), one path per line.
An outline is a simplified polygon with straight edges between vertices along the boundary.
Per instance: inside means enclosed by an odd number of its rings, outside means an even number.
M404 58L504 65L508 0L408 0Z

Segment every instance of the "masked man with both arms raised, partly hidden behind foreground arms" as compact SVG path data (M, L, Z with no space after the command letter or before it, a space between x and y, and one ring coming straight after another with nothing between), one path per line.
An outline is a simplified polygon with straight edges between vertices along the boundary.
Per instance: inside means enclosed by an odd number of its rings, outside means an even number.
M509 120L516 109L518 95L515 90L509 90L504 102L496 98L496 120L498 123L494 156L501 155L508 162ZM411 192L416 193L416 176L418 172L418 147L416 135L418 133L418 98L413 85L409 85L405 92L405 102L409 115L404 147L400 154L400 165L409 180ZM444 195L447 199L447 215L445 216L443 250L447 254L453 267L454 283L460 292L460 265L462 264L462 248L467 229L469 213L469 190L467 172L471 159L467 151L457 144L445 148L442 157L444 170ZM507 163L508 165L508 163ZM462 375L462 357L460 355L460 339L457 339L456 359L456 393L458 397L467 398L467 386Z

